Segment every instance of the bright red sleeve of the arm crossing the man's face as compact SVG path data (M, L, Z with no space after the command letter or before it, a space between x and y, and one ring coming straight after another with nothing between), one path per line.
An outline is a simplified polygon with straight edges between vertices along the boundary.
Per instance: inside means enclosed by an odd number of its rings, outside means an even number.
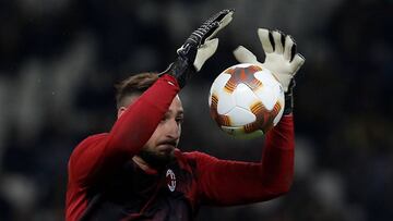
M131 159L152 136L178 91L172 76L159 77L108 134L88 137L74 149L69 160L69 179L88 185Z

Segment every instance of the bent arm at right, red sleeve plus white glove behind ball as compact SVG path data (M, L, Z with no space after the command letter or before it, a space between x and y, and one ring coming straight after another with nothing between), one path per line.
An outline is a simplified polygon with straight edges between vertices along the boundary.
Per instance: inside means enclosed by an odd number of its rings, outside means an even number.
M234 53L239 62L255 63L269 69L285 90L284 116L266 134L260 163L218 160L209 156L196 159L199 189L202 201L215 205L239 205L267 200L285 194L294 175L294 76L305 59L296 52L294 39L278 30L258 29L265 61L245 47Z

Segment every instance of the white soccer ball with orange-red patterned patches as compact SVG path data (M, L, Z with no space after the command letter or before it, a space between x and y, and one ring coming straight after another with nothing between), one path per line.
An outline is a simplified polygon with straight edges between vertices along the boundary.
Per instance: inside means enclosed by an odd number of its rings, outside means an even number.
M284 90L267 69L236 64L213 82L209 106L212 118L224 132L237 138L253 138L281 120Z

